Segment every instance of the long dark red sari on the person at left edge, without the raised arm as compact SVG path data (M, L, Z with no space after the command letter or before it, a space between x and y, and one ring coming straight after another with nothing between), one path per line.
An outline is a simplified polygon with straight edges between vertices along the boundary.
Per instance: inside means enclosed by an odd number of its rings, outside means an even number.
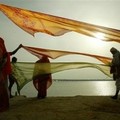
M10 56L0 38L0 112L9 108L7 76L11 73Z

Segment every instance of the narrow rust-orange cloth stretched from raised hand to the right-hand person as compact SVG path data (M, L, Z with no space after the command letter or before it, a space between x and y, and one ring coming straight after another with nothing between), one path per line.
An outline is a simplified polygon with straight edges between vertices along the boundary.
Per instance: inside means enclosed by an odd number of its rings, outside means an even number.
M44 49L44 48L36 48L36 47L29 47L29 46L22 46L25 50L27 50L29 53L35 55L36 57L40 57L41 55L48 56L49 58L56 59L58 57L62 57L65 55L84 55L88 57L93 57L102 63L109 65L112 58L100 56L100 55L94 55L94 54L88 54L88 53L80 53L80 52L72 52L72 51L62 51L62 50L53 50L53 49Z

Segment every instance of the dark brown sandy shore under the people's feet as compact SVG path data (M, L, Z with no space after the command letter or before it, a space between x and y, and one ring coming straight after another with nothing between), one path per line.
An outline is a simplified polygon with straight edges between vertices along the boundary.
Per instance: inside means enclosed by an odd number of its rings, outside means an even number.
M120 99L110 96L75 96L10 99L10 109L0 120L118 120Z

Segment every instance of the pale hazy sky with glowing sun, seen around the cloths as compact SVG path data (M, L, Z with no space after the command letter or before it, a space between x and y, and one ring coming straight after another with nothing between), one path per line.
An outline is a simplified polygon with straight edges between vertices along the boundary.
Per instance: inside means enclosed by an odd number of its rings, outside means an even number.
M1 4L43 12L77 21L120 29L120 0L0 0ZM45 33L31 36L0 12L0 36L5 40L8 51L19 44L54 50L83 52L112 57L111 47L120 49L119 43L104 42L75 32L53 37ZM22 48L15 54L20 62L35 62L38 58ZM92 62L100 61L81 55L68 55L50 59L51 62ZM108 77L93 68L67 70L53 74L53 78L61 79L107 79Z

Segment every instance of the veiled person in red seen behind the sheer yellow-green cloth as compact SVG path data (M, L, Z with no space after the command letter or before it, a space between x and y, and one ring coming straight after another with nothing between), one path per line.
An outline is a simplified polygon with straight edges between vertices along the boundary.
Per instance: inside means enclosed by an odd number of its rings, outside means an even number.
M40 64L45 63L45 64ZM48 64L46 64L48 63ZM37 98L42 99L47 95L47 88L52 84L50 61L47 56L42 56L36 63L33 73L33 84L38 90Z

